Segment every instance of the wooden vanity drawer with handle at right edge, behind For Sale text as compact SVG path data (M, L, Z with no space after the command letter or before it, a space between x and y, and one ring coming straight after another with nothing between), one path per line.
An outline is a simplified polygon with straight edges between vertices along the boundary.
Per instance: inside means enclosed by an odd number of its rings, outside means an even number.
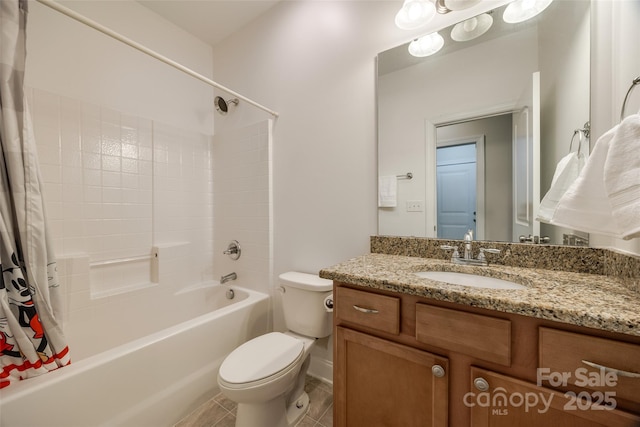
M562 374L567 384L615 392L617 398L640 403L640 345L540 328L539 346L539 368L545 369L539 376L558 379L543 384L562 388Z

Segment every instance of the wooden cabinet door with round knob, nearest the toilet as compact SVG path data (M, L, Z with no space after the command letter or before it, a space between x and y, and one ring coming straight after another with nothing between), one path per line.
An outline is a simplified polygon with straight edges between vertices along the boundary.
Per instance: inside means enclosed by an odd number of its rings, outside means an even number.
M335 339L336 426L447 426L446 358L343 327Z

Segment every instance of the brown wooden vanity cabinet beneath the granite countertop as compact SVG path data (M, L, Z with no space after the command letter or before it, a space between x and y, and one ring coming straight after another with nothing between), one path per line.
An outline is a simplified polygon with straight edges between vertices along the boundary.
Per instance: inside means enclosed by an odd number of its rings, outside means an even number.
M337 426L640 426L640 337L342 282L334 297Z

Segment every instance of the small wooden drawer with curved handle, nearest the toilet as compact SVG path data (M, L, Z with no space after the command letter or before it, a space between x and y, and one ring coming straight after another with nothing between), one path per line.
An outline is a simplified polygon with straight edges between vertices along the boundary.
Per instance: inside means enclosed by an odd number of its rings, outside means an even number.
M339 319L395 335L400 333L400 298L337 287L334 300Z

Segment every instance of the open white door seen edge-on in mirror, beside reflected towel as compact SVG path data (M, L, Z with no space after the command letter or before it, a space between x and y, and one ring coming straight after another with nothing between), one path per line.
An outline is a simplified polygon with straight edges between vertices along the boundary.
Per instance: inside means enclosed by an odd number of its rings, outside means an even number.
M513 114L513 240L540 235L539 206L540 72L535 72Z

